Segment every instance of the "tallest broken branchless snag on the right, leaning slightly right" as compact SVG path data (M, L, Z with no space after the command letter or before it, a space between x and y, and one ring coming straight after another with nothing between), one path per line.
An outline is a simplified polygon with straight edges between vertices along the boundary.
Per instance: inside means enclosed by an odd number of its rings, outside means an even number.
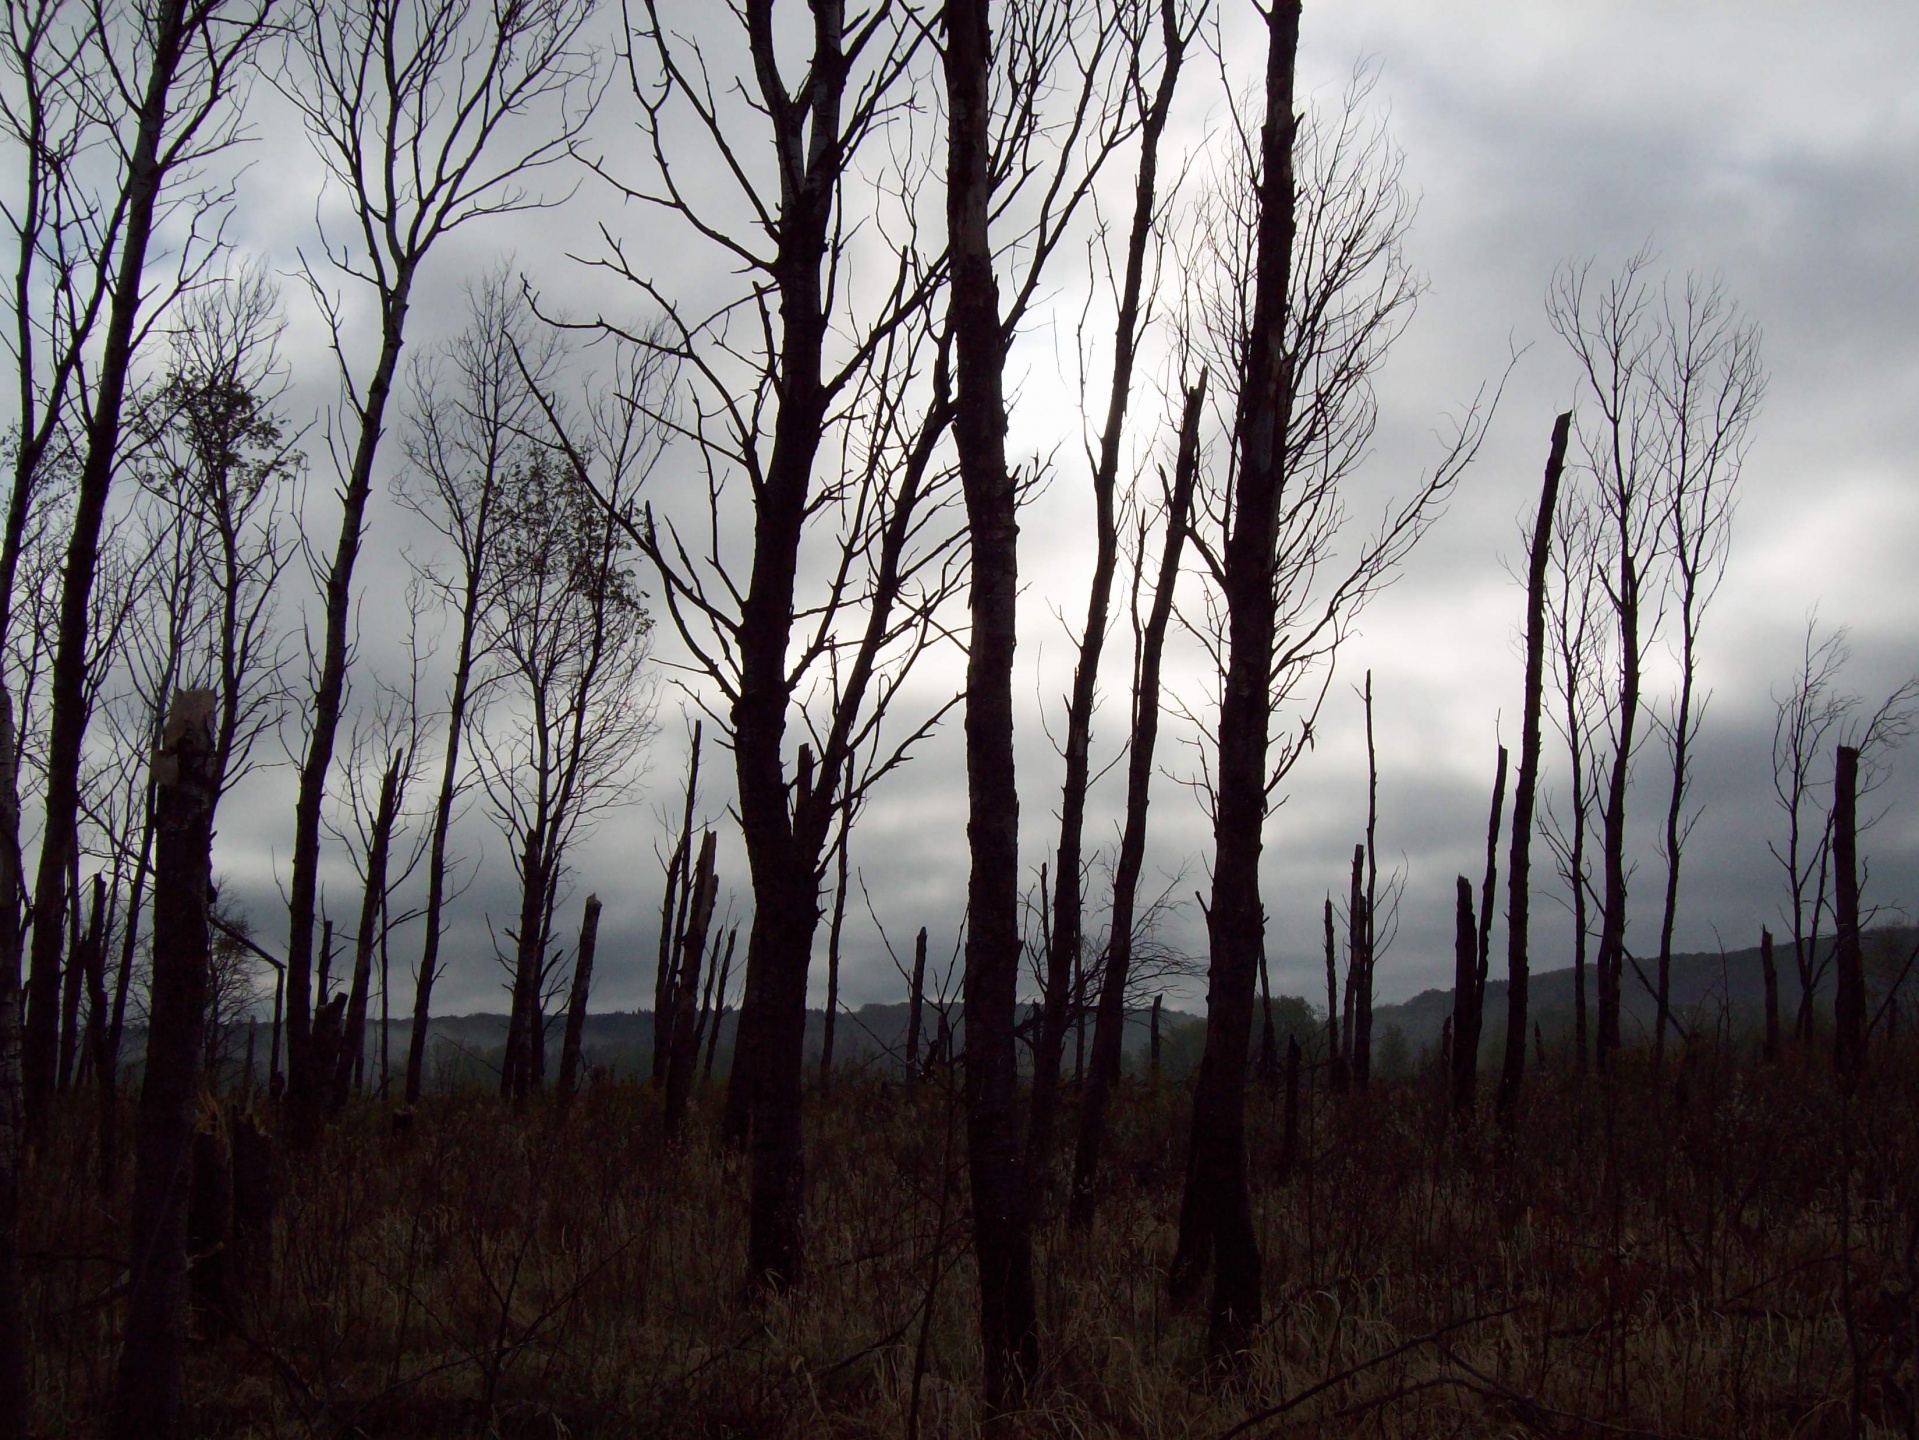
M1552 422L1547 472L1539 486L1539 515L1533 518L1531 553L1526 574L1526 718L1520 724L1520 776L1512 789L1512 854L1506 868L1506 1066L1499 1075L1499 1123L1508 1135L1520 1104L1526 1073L1528 1006L1528 906L1531 893L1533 797L1539 791L1539 712L1545 695L1547 649L1547 564L1552 559L1552 516L1558 511L1558 482L1566 468L1566 440L1572 413Z

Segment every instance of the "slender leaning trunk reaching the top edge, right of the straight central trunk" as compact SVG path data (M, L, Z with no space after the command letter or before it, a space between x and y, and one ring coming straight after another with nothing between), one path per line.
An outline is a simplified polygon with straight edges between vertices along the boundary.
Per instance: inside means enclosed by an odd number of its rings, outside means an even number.
M1159 17L1165 61L1153 100L1140 117L1140 169L1132 196L1132 225L1126 230L1126 269L1119 290L1113 378L1107 390L1105 424L1100 430L1100 459L1092 476L1094 572L1086 595L1086 628L1080 632L1078 660L1073 668L1073 697L1067 703L1065 785L1059 799L1059 851L1054 864L1054 933L1046 952L1046 993L1032 1046L1032 1102L1027 1125L1027 1169L1038 1187L1046 1185L1052 1167L1067 983L1075 966L1084 962L1080 954L1084 943L1080 845L1086 829L1086 785L1092 776L1092 710L1100 684L1100 657L1105 653L1113 570L1119 561L1115 495L1121 438L1126 424L1126 403L1132 397L1132 371L1142 328L1146 246L1159 204L1159 138L1173 109L1173 92L1186 56L1176 0L1161 0Z

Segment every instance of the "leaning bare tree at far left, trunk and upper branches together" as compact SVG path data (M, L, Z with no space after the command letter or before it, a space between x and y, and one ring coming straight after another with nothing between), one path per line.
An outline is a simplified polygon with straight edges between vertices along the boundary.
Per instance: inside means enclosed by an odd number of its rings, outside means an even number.
M109 125L104 150L113 156L123 211L117 253L98 257L111 267L104 286L106 328L98 359L86 361L84 440L59 580L59 620L54 641L46 728L46 820L40 829L38 874L33 885L33 956L27 1027L21 1046L27 1117L36 1125L44 1096L54 1089L59 1048L59 950L65 931L67 881L79 845L81 753L92 708L88 660L94 643L92 601L100 566L107 495L119 472L123 420L134 351L152 332L155 296L148 250L155 227L173 204L186 200L201 213L219 213L217 194L201 188L175 196L169 186L192 177L238 138L236 98L265 35L261 0L161 0L136 25L104 19L90 27L81 61L90 71L92 102L125 115ZM188 182L192 182L188 179ZM177 250L178 288L205 265L207 242L198 221ZM196 261L194 255L200 255ZM12 576L8 576L12 580Z

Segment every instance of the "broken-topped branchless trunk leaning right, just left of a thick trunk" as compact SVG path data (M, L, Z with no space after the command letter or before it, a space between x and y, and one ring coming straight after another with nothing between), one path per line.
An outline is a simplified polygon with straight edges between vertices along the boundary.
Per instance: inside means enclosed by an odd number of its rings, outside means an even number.
M1146 814L1153 791L1153 749L1159 743L1159 670L1173 622L1173 595L1180 578L1180 555L1192 516L1194 486L1199 474L1199 417L1205 409L1205 371L1186 392L1180 413L1180 451L1173 467L1173 493L1167 497L1167 538L1159 549L1159 578L1153 609L1140 634L1138 680L1132 695L1132 733L1126 741L1126 824L1119 839L1113 870L1113 916L1100 973L1100 1014L1092 1033L1092 1068L1080 1100L1078 1144L1073 1156L1073 1202L1069 1219L1084 1229L1092 1223L1100 1152L1105 1146L1105 1106L1119 1085L1126 1037L1126 979L1132 972L1132 925L1146 866ZM1140 547L1142 564L1144 551ZM1153 1002L1157 1006L1157 1000ZM1155 1008L1157 1020L1157 1008ZM1157 1056L1157 1027L1155 1056ZM1157 1075L1157 1060L1155 1060Z

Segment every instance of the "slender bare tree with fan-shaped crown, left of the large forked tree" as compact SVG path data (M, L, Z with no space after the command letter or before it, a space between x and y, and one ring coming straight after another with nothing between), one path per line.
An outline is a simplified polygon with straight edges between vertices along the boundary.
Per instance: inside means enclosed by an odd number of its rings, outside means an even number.
M445 234L549 204L526 186L568 154L591 115L595 67L580 38L591 12L591 0L297 0L292 15L294 63L280 94L305 121L326 177L351 200L357 232L322 234L320 246L340 275L372 290L380 315L372 367L355 372L344 303L307 273L340 361L345 432L340 538L320 578L326 620L294 804L286 989L296 1140L311 1139L326 1083L307 1044L320 812L345 697L353 570L413 290Z

